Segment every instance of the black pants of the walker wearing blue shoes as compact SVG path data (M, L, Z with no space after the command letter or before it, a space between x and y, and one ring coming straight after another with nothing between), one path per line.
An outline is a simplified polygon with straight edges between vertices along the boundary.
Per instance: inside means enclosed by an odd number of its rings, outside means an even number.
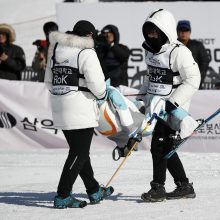
M58 195L63 198L69 196L78 174L83 180L87 193L98 190L99 184L94 178L89 156L93 131L94 128L63 130L70 147L57 189Z

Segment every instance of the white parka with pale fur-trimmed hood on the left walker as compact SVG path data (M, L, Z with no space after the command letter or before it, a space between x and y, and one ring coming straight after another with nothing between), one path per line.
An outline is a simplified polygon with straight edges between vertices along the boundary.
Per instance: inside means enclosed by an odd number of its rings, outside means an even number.
M55 59L58 63L71 60L72 67L79 70L79 86L91 92L70 91L62 95L51 94L54 126L62 130L82 129L98 126L99 110L96 99L106 94L106 84L102 68L90 37L79 37L73 34L52 32L45 73L45 83L53 91L53 51L56 46Z

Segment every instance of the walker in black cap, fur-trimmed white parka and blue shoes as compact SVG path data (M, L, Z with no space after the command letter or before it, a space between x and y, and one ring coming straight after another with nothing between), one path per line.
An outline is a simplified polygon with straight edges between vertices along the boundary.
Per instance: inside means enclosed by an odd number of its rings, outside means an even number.
M45 74L51 92L54 126L61 129L69 145L69 154L60 177L55 208L82 208L86 201L73 197L73 184L80 175L90 203L96 204L113 193L94 178L90 145L98 126L97 100L107 98L104 74L94 50L96 33L92 23L78 21L73 31L52 32Z

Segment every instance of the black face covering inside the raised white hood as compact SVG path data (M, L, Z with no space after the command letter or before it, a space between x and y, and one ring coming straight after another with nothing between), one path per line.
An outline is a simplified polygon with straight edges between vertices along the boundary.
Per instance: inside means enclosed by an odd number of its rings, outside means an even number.
M158 38L150 38L148 34L152 31L156 31L158 34ZM167 36L153 23L146 22L142 28L143 35L147 45L152 49L151 52L158 53L161 47L167 42Z

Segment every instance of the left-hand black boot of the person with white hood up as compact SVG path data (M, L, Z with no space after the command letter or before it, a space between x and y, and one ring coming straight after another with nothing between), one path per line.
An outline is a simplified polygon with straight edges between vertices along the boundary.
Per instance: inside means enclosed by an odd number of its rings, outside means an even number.
M163 185L155 182L151 182L150 185L151 189L141 195L145 202L162 202L166 199L166 191Z

